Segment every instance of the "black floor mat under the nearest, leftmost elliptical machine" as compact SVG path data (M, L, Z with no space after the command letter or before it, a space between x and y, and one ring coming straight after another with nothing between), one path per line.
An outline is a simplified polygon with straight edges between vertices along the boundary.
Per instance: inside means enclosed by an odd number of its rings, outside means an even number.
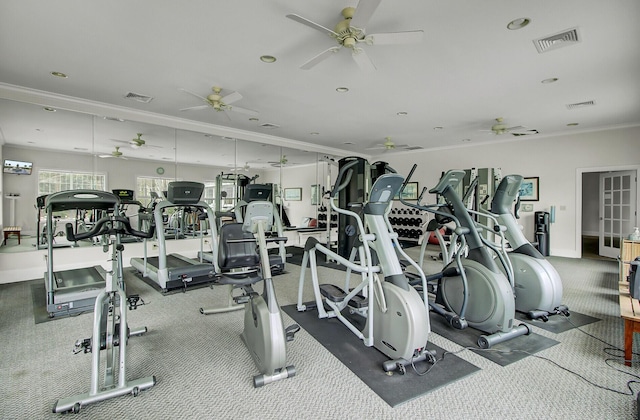
M448 354L424 376L417 375L411 366L407 366L405 375L398 372L387 375L382 369L382 363L387 357L373 347L365 347L338 319L319 319L316 310L298 312L296 305L287 305L282 309L391 407L435 391L480 370L477 366ZM435 350L438 359L442 357L444 350L440 347L429 344L427 348ZM428 363L420 362L416 364L416 369L422 372L429 366L431 365Z

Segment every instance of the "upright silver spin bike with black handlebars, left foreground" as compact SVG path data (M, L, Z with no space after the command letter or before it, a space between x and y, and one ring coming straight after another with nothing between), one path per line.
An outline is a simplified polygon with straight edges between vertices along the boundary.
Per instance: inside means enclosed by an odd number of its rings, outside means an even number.
M87 195L90 194L83 191L83 194L76 195L76 198L92 199L97 197L87 197ZM117 198L115 199L117 200ZM108 252L111 249L112 268L106 273L105 289L96 297L93 335L91 338L78 340L74 349L76 354L80 352L92 353L89 392L58 400L53 407L54 413L78 413L80 408L87 404L126 394L135 397L140 391L155 385L155 376L136 380L127 379L127 340L131 336L144 334L147 332L147 328L143 327L132 331L127 324L127 306L129 309L136 309L140 298L136 295L127 296L124 291L122 277L124 246L120 243L122 235L151 238L154 231L153 225L150 226L148 232L134 230L131 228L128 218L114 213L99 219L91 230L83 233L74 233L73 225L66 224L66 234L69 241L102 236L104 251ZM116 351L116 348L119 350ZM105 350L104 362L106 363L102 374L102 383L100 381L101 350Z

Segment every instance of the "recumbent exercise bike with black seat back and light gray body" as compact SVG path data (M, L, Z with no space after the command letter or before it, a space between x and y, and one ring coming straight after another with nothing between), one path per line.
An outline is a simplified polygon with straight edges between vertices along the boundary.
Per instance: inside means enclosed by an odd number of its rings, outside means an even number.
M218 264L221 273L216 284L232 285L242 290L234 300L244 304L244 330L241 338L260 370L253 378L258 388L296 374L287 366L287 342L300 329L296 324L283 326L271 276L267 242L284 242L285 237L266 238L274 221L274 206L269 201L247 204L243 223L227 223L220 228ZM259 254L256 252L256 246ZM262 294L252 285L264 281Z

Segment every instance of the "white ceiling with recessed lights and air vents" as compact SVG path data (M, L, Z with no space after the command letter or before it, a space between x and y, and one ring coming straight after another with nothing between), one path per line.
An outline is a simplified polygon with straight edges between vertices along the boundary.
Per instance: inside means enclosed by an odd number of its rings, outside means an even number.
M300 69L337 44L286 15L332 29L346 6L357 1L1 0L0 140L96 154L119 145L134 158L207 163L223 159L226 136L265 145L248 143L237 154L238 163L264 163L278 159L272 145L302 162L315 158L309 151L376 155L369 148L387 136L440 149L640 125L637 0L383 0L367 33L421 30L423 42L360 44L375 71L363 71L346 48ZM507 29L524 17L528 26ZM538 53L533 40L573 28L580 42ZM265 54L277 61L261 62ZM558 81L542 83L549 78ZM223 96L241 93L234 105L258 111L259 121L180 111L203 104L181 89L207 96L214 85ZM567 107L588 101L595 105ZM489 129L497 117L539 134L496 136ZM161 148L114 141L138 132Z

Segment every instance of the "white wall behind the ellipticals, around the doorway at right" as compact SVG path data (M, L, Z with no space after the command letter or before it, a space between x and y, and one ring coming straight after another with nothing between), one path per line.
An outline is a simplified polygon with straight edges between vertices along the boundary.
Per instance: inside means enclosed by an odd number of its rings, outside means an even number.
M533 202L534 211L549 211L556 206L551 254L579 258L581 245L576 239L581 232L576 231L576 220L581 218L582 189L578 193L577 187L581 187L582 179L577 179L577 173L584 168L640 166L638 139L640 127L632 127L379 158L405 175L417 163L412 180L419 181L420 188L435 185L441 172L449 169L497 167L502 168L503 175L540 177L540 201ZM521 217L520 223L531 240L533 213L522 213Z

